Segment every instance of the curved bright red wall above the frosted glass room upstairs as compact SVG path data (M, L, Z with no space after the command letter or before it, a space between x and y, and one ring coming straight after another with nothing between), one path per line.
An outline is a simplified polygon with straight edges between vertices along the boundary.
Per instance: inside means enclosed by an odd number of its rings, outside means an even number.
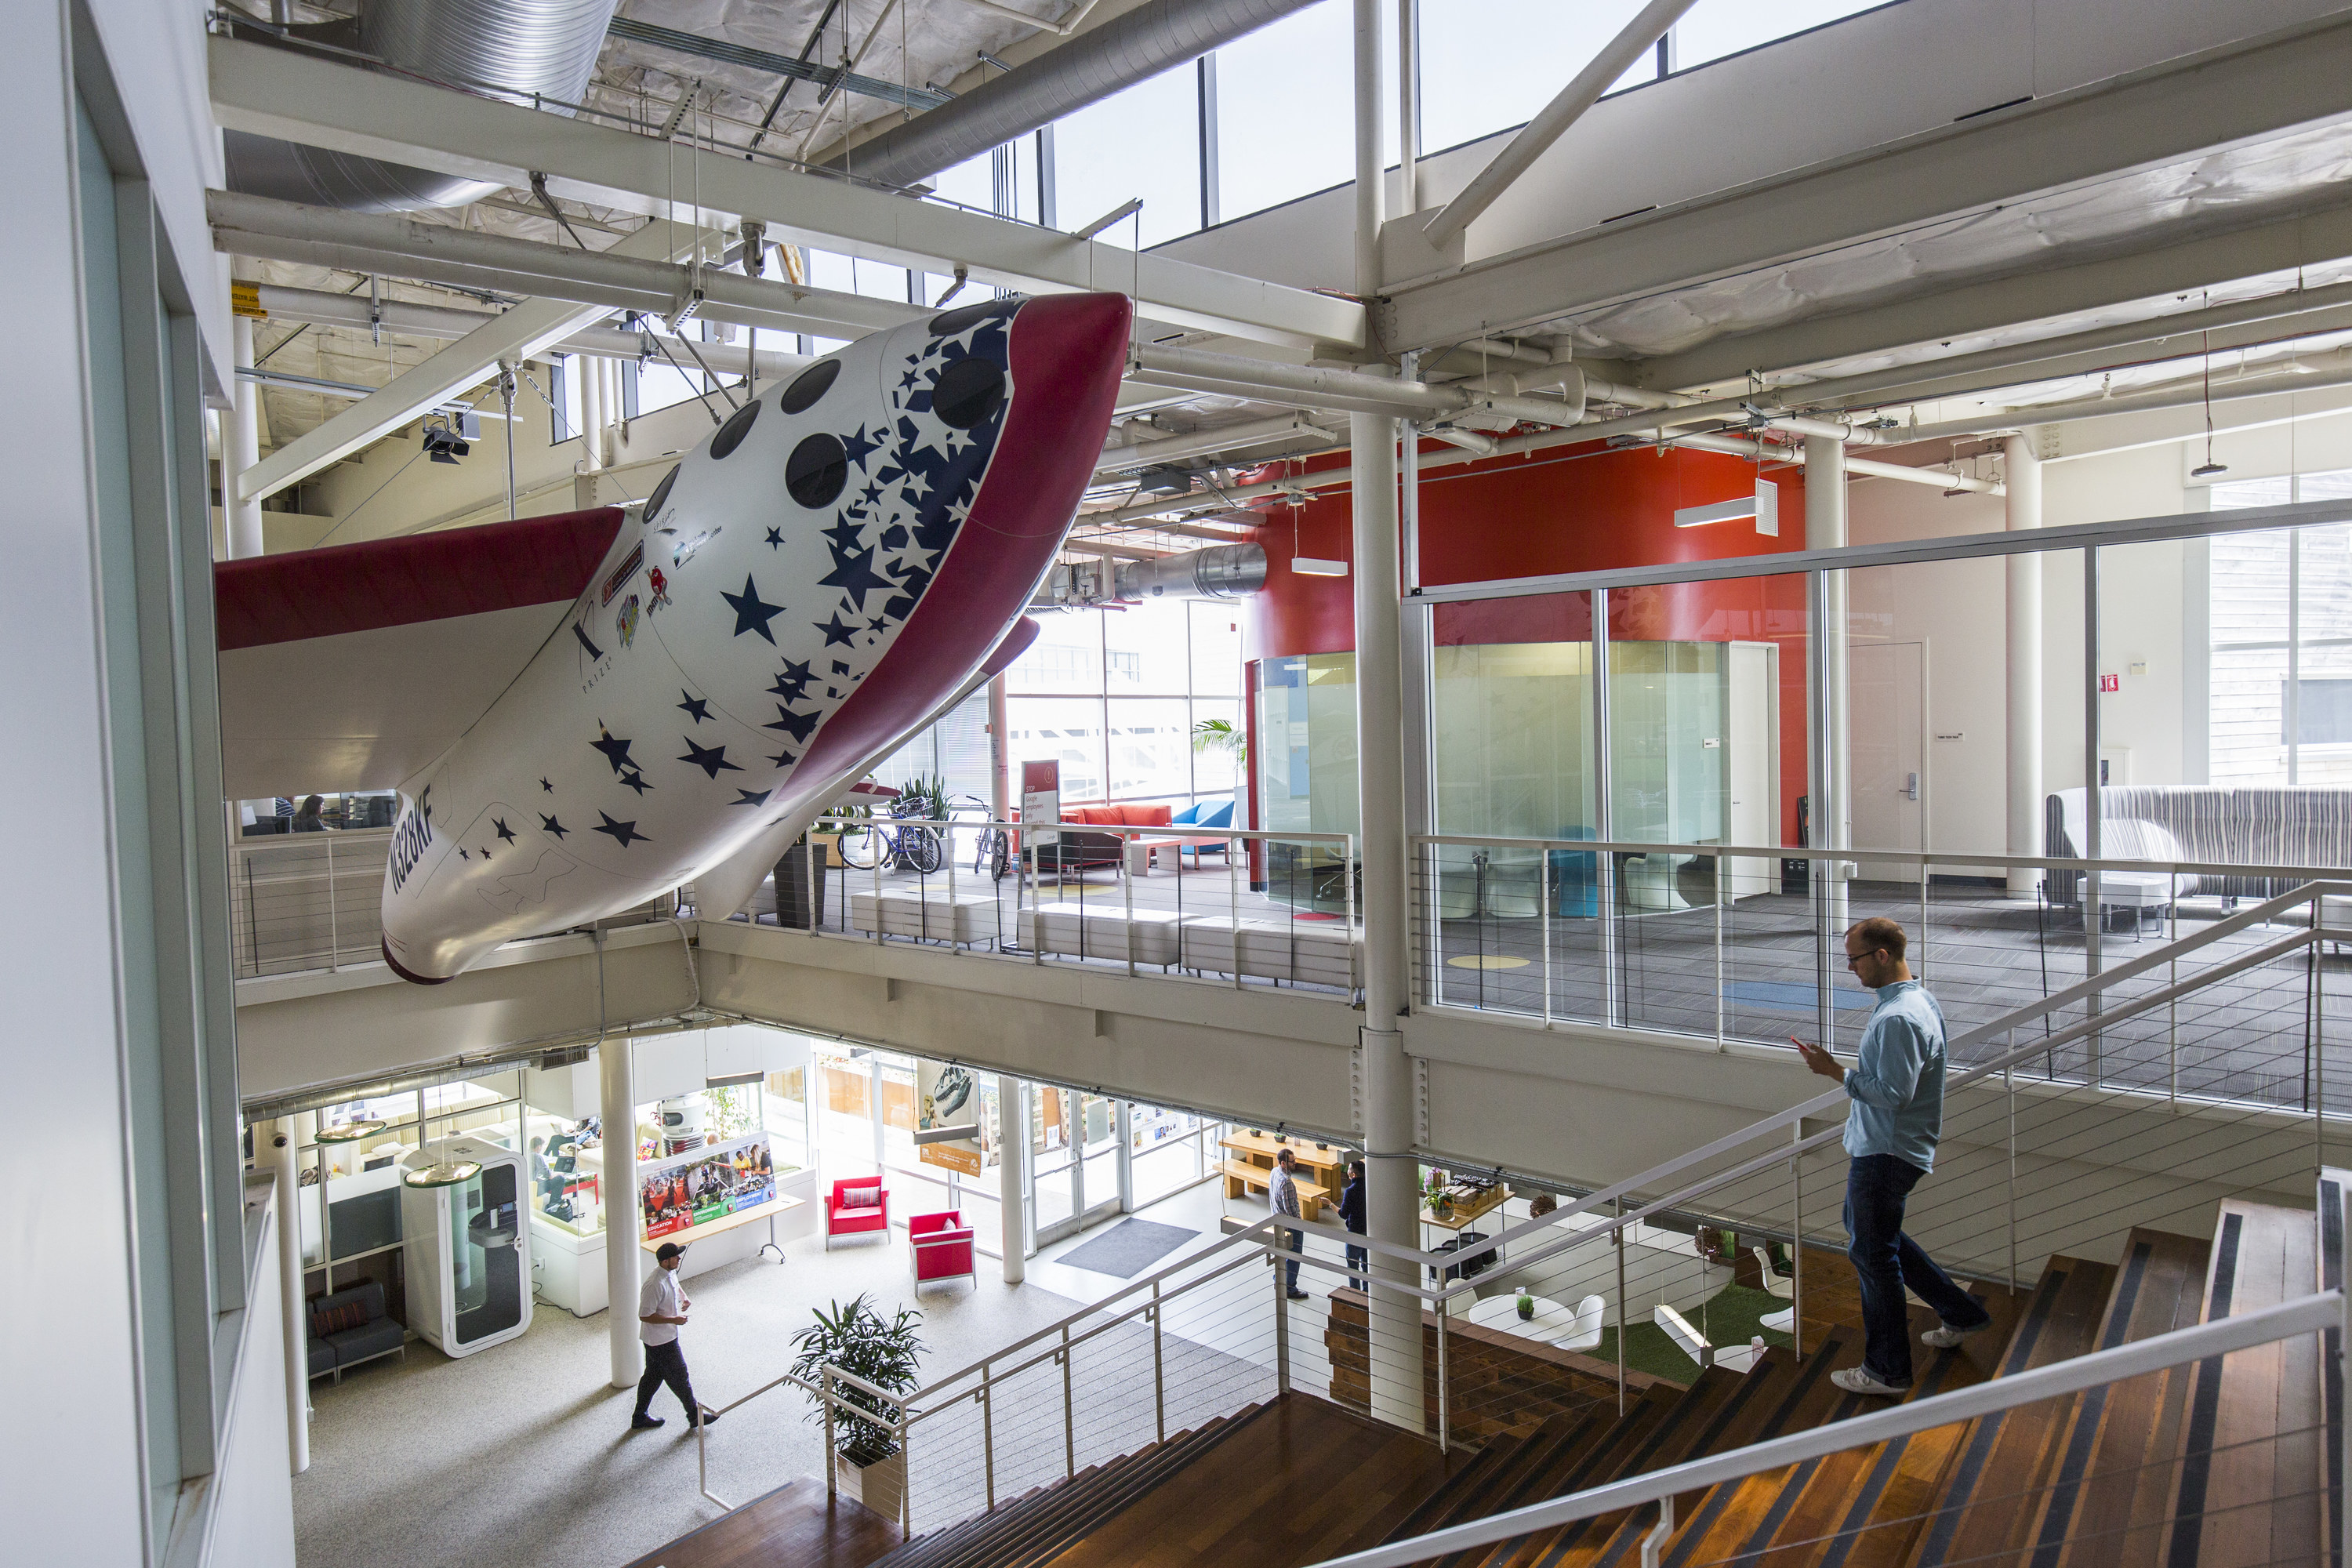
M1430 442L1423 451L1454 451ZM1319 458L1310 470L1338 468ZM1268 470L1272 473L1272 470ZM1804 548L1804 470L1766 470L1780 487L1780 536L1750 522L1677 529L1675 510L1755 491L1757 470L1715 451L1646 447L1606 451L1569 447L1484 463L1449 465L1421 477L1421 581L1484 583L1552 571L1653 567ZM1319 494L1279 508L1258 529L1265 545L1265 592L1249 599L1242 623L1251 663L1289 654L1343 654L1355 646L1350 578L1298 576L1294 555L1355 555L1348 494ZM1449 604L1437 614L1439 644L1581 642L1592 635L1585 595ZM1795 842L1804 795L1804 581L1795 576L1729 583L1672 583L1609 595L1609 635L1661 642L1780 644L1780 830ZM1251 670L1256 689L1256 670ZM1251 719L1256 715L1251 712Z

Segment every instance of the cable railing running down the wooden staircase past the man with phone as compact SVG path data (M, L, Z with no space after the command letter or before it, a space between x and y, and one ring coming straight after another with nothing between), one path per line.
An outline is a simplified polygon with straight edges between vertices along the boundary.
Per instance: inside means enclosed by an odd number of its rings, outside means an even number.
M2321 1164L2321 1138L2331 1124L2340 1135L2347 1114L2347 1091L2331 1077L2352 1065L2338 1058L2328 1074L2326 966L2314 959L2321 945L2352 940L2352 931L2317 924L2336 898L2352 898L2352 884L2298 886L1955 1032L1955 1063L1973 1063L1950 1077L1936 1173L1915 1194L1905 1229L1978 1293L2018 1293L2058 1253L2114 1253L2133 1227L2194 1229L2194 1215L2209 1215L2220 1197L2307 1178ZM2249 976L2263 980L2253 992ZM2253 1032L2274 1046L2251 1058L2234 1044L2249 997L2279 1025ZM2051 1067L2084 1060L2096 1037L2112 1041L2150 1020L2161 1020L2173 1058L2161 1084L2091 1081ZM2303 1100L2249 1093L2288 1079L2300 1086L2305 1074ZM1294 1385L1451 1448L1557 1415L1623 1413L1651 1387L1686 1387L1710 1366L1748 1371L1759 1340L1762 1349L1820 1349L1823 1324L1856 1314L1842 1298L1851 1274L1837 1258L1842 1107L1844 1093L1825 1091L1548 1215L1498 1222L1491 1237L1456 1234L1444 1248L1261 1218L896 1399L894 1432L910 1455L908 1519L924 1530L955 1523ZM1350 1265L1348 1246L1364 1248L1371 1267ZM1268 1260L1272 1279L1261 1274ZM1308 1300L1327 1298L1322 1312L1303 1312L1289 1295L1282 1265L1291 1260L1301 1286L1315 1286ZM1839 1267L1825 1274L1830 1262ZM1522 1286L1531 1298L1524 1319ZM1597 1312L1588 1312L1595 1298ZM2338 1305L2326 1312L2340 1316ZM2209 1328L2246 1333L2249 1321ZM2293 1333L2310 1328L2293 1321ZM2166 1342L2185 1347L2183 1359L2220 1354L2218 1338ZM1661 1366L1668 1356L1679 1361ZM2091 1380L2136 1371L2131 1361L2091 1366ZM1416 1368L1418 1401L1397 1385ZM1997 1382L1992 1399L2060 1392ZM1089 1399L1089 1385L1127 1396ZM1936 1408L1945 1413L1889 1418L1933 1425L1976 1406ZM1823 1453L1875 1441L1867 1432L1875 1427L1839 1422ZM1755 1469L1785 1462L1757 1460ZM1649 1493L1611 1493L1595 1509L1693 1486L1658 1481Z

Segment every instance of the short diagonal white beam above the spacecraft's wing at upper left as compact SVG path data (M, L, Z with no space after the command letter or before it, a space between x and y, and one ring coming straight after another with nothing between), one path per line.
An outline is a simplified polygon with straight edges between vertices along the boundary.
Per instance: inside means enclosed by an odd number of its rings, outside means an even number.
M647 223L628 240L600 254L673 261L691 249L691 228ZM506 315L482 322L423 364L393 376L381 393L362 397L261 458L254 468L247 468L238 475L238 498L261 501L263 496L275 496L287 484L299 484L320 468L341 463L360 447L383 440L419 414L445 402L452 393L480 383L482 374L499 360L529 360L607 315L612 315L607 306L527 299Z

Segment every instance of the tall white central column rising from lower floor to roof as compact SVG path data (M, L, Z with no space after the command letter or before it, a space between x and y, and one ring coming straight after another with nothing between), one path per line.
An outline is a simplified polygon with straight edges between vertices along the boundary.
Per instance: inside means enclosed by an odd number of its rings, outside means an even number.
M1381 282L1381 0L1355 0L1355 280ZM1414 1065L1397 1018L1406 1011L1404 884L1404 642L1397 581L1397 421L1350 414L1355 484L1355 724L1364 853L1364 1220L1376 1241L1421 1246L1414 1150ZM1374 1276L1418 1286L1418 1267L1374 1253ZM1421 1432L1421 1305L1371 1293L1371 1413Z

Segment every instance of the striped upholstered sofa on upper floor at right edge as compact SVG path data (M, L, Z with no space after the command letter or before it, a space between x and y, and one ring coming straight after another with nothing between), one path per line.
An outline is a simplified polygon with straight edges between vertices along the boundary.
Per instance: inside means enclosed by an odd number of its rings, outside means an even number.
M2103 860L2187 860L2232 865L2352 867L2352 790L2319 785L2110 785L2098 792ZM2084 792L2046 802L2046 853L2084 853ZM2079 877L2051 875L2051 900L2074 903ZM2270 898L2291 882L2272 877L2180 877L2178 891Z

